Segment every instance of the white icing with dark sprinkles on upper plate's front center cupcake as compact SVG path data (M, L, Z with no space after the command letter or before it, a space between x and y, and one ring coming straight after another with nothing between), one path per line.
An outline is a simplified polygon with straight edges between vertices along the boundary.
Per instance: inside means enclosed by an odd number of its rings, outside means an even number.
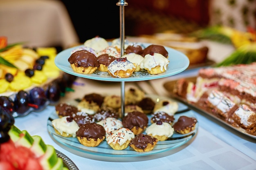
M112 75L115 75L115 72L116 71L119 71L119 70L128 70L128 69L135 69L136 67L134 66L134 64L128 60L126 60L125 62L120 62L120 61L117 61L117 60L114 60L113 62L111 62L109 65L108 65L108 71L110 73L112 73ZM117 77L119 77L117 75ZM119 77L121 78L121 77Z

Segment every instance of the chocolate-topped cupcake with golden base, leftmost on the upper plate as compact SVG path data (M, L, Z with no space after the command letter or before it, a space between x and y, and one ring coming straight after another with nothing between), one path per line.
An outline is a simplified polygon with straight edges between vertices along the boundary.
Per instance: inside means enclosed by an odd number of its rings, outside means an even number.
M86 50L76 51L70 55L68 62L77 73L92 74L99 67L99 60L93 53Z

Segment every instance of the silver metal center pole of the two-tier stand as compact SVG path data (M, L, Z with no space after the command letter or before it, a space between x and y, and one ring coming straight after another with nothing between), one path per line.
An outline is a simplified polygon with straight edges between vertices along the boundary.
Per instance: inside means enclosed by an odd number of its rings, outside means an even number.
M120 6L120 49L121 49L121 56L124 55L124 6L127 6L128 3L125 0L120 0L117 2L117 6ZM125 82L121 81L121 118L124 117L124 108L125 108Z

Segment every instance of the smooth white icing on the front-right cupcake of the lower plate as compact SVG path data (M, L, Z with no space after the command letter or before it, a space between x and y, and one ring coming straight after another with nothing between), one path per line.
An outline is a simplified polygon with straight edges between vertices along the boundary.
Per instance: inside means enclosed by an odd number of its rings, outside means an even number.
M152 136L158 135L171 137L173 135L174 128L167 122L162 122L162 125L153 123L146 128L145 132L146 134L151 134Z

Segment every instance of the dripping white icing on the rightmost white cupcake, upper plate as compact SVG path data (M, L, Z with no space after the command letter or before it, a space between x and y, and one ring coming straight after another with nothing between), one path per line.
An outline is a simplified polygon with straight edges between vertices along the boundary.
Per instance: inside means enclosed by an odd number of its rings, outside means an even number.
M169 64L169 60L164 57L162 54L154 53L154 55L147 54L144 56L144 60L140 63L140 68L155 68L156 66L160 66L161 71L164 69L167 70L167 65ZM163 69L164 68L164 69Z

